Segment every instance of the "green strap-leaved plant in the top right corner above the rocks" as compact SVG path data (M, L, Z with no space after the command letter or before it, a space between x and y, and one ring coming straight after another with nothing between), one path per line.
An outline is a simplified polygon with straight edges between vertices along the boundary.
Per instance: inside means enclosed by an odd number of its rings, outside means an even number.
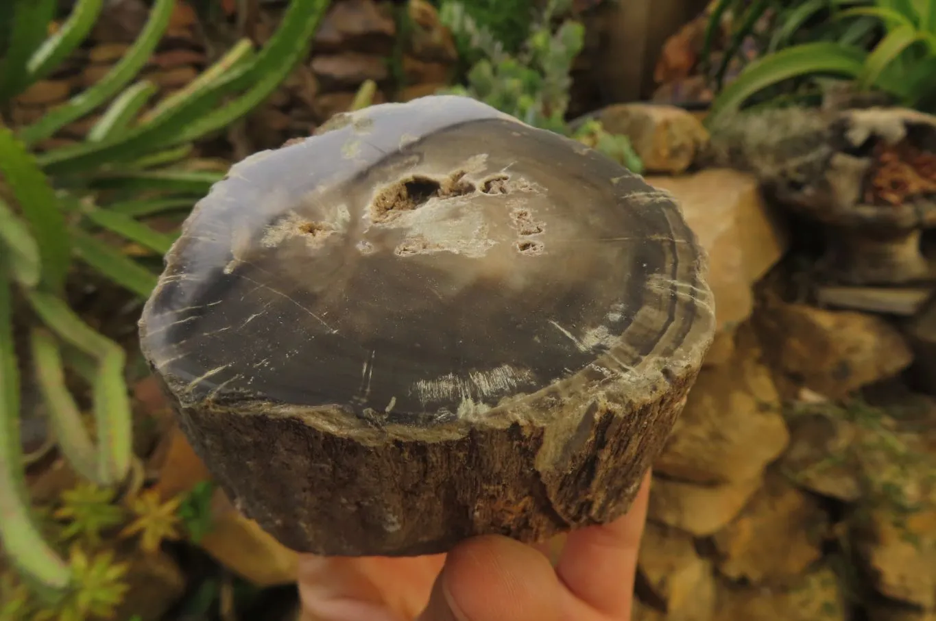
M726 15L732 26L715 68L709 51ZM724 85L728 65L749 40L758 57ZM932 111L936 0L720 0L709 16L702 56L703 68L713 69L716 89L709 125L752 103L820 98L830 79Z

